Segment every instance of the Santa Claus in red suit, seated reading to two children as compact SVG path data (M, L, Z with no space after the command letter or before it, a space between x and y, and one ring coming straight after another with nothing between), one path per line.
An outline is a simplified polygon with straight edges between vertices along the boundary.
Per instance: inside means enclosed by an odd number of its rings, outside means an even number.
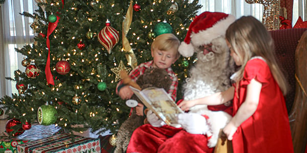
M184 57L196 53L198 60L184 84L185 100L224 91L231 86L229 77L234 72L234 62L229 55L225 33L234 20L229 14L204 12L190 24L179 52ZM134 131L127 153L212 152L218 132L231 119L229 106L195 106L190 112L178 115L179 128L166 125L155 113L148 111L146 116L150 124Z

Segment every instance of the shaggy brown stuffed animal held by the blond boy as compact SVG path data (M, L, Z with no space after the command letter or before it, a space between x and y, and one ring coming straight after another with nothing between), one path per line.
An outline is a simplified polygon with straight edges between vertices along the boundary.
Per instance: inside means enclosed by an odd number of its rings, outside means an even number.
M157 87L164 88L165 91L168 91L172 83L167 71L160 68L146 69L145 72L136 80L136 84L135 82L131 82L131 79L129 80L127 75L126 77L122 77L122 79L125 85L131 85L138 89ZM142 103L142 101L140 101L136 95L133 95L131 99L136 100L138 103ZM144 114L144 116L138 116L136 114L136 109L134 108L129 118L126 119L119 127L114 152L126 152L132 133L135 129L137 129L137 127L143 125L144 123L146 123L146 115Z

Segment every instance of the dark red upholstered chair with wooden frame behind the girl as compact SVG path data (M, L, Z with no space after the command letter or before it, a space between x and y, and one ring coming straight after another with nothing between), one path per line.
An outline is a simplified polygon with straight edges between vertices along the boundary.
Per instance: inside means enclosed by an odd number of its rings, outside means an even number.
M285 98L294 152L304 152L307 144L307 29L284 29L270 33L277 60L290 84Z

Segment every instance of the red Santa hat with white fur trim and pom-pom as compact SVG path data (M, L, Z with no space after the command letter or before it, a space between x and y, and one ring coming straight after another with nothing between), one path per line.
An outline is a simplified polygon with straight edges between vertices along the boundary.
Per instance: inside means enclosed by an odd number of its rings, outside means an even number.
M193 56L193 46L209 44L213 39L224 36L227 28L234 21L233 15L222 12L203 12L191 22L187 35L178 48L179 53L184 57Z

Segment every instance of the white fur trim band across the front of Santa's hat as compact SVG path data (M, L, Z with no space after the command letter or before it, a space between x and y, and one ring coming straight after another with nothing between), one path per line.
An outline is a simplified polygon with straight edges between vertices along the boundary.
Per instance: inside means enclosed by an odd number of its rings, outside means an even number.
M213 39L225 36L227 28L234 21L235 17L233 15L228 15L227 18L217 21L211 28L201 30L196 34L192 32L191 42L195 46L209 44Z

